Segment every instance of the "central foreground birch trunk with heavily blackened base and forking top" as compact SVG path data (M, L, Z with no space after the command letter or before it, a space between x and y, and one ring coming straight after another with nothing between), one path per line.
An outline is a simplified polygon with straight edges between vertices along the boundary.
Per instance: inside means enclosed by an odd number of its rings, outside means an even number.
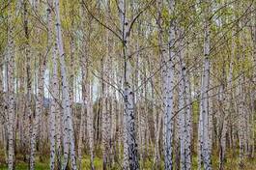
M125 100L125 115L124 115L124 167L127 170L139 169L139 161L137 156L137 143L135 132L134 119L134 94L131 88L131 66L128 57L129 45L129 24L128 24L128 9L125 0L119 0L120 21L122 30L122 45L123 56L125 59L124 73L124 100Z

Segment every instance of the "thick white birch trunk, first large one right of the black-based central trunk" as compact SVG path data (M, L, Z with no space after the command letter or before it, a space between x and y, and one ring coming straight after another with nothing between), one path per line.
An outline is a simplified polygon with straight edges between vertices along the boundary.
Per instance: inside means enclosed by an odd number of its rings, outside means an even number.
M169 2L169 14L174 14L174 1ZM166 94L163 102L164 106L164 168L173 169L173 109L174 109L174 44L175 44L175 20L169 22L169 57L163 54L163 93ZM164 51L162 51L164 53ZM165 71L164 71L165 70Z

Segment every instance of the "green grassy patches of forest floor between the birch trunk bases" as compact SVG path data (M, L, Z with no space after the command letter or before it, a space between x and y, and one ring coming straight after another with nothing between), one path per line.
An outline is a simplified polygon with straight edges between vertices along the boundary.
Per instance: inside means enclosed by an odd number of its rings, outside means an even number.
M213 154L213 170L218 169L218 156L216 154ZM237 152L228 152L227 159L225 162L225 170L239 170L239 157ZM47 159L47 158L46 158ZM49 169L49 163L48 160L40 161L40 158L36 158L36 170L48 170ZM102 159L98 156L95 157L94 161L95 169L101 170L102 169ZM163 163L161 163L161 166L163 169ZM28 169L28 163L21 160L21 158L16 158L16 170L27 170ZM82 167L83 170L89 170L90 169L90 156L84 156L82 159ZM141 162L141 169L143 170L152 170L153 169L153 161L151 159L147 159L144 163ZM192 169L197 169L197 157L193 156L192 161ZM7 164L5 163L5 156L3 151L0 149L0 170L6 170ZM112 168L112 170L119 170L122 169L120 165L116 164L115 167ZM244 159L244 165L242 167L242 170L256 170L256 157L255 158L246 158Z

